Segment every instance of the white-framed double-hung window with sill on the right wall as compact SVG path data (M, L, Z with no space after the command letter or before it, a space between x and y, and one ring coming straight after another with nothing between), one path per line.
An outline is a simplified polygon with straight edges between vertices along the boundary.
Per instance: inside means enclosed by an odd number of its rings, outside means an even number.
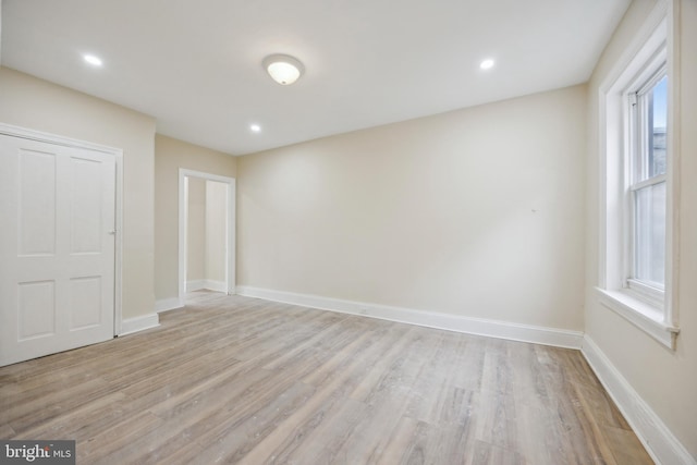
M600 302L669 347L672 106L665 12L600 86ZM640 40L640 37L644 37Z

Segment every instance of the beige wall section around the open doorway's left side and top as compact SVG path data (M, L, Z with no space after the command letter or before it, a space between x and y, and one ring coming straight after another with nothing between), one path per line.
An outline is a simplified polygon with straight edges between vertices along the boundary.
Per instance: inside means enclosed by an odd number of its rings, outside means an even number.
M179 294L179 169L235 178L237 160L227 154L158 134L155 138L155 295Z

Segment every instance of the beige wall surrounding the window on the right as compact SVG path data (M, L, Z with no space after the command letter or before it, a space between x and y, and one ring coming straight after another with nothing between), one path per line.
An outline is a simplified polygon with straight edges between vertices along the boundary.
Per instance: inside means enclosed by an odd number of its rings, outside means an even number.
M682 49L678 77L682 118L678 122L682 163L678 225L677 350L670 351L598 303L598 93L619 57L653 7L652 1L632 4L603 53L589 83L589 162L587 215L586 333L660 416L688 452L697 457L697 2L677 0L682 9L676 39Z

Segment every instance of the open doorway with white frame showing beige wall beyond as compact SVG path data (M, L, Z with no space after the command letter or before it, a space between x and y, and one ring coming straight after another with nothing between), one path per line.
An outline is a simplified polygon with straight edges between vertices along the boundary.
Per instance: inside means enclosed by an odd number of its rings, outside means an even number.
M179 298L235 292L235 180L180 169Z

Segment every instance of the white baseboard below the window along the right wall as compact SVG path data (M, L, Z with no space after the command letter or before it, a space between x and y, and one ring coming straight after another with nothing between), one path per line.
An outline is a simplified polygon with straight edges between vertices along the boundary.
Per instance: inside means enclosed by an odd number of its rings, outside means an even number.
M584 336L580 352L657 464L697 465L695 457L687 452L588 334Z

